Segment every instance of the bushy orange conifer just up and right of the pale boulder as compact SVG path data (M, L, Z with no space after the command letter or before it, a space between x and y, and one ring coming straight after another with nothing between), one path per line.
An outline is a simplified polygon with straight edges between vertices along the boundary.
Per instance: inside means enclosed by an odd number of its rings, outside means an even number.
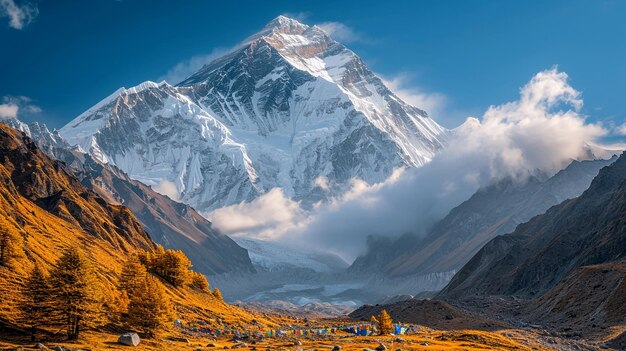
M128 323L144 335L155 336L172 316L169 298L161 283L148 275L143 283L129 295Z

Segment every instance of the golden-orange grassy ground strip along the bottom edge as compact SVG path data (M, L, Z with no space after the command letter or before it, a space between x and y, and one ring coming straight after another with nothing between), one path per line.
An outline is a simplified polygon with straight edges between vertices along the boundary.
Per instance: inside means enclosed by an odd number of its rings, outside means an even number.
M25 350L35 348L33 342L0 340L0 350ZM546 338L535 332L505 329L497 332L478 330L441 331L418 327L410 335L396 337L367 336L355 337L345 332L332 335L306 337L288 335L265 338L257 341L234 341L231 338L188 338L164 336L158 339L142 339L137 347L117 343L116 334L87 333L76 343L43 343L51 350L375 350L385 345L388 350L594 350L596 348L572 344L571 341L556 337ZM380 348L379 348L380 350Z

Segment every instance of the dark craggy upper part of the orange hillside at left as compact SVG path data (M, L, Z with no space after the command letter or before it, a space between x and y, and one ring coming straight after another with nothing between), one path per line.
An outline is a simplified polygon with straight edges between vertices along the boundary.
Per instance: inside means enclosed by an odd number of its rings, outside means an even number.
M108 204L72 177L65 165L40 151L30 138L4 124L0 124L0 155L5 184L14 190L11 197L28 200L118 250L154 247L126 207ZM12 211L11 206L5 211ZM17 213L9 216L21 222Z

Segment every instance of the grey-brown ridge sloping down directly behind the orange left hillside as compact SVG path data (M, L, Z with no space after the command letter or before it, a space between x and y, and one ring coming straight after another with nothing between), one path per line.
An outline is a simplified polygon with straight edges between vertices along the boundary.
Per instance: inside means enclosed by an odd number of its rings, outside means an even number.
M43 124L26 125L17 119L7 122L36 140L46 154L69 165L85 187L108 203L128 207L156 243L183 250L194 262L195 270L209 275L254 272L247 251L213 229L211 222L190 206L130 179L115 166L71 149L56 131L49 131Z

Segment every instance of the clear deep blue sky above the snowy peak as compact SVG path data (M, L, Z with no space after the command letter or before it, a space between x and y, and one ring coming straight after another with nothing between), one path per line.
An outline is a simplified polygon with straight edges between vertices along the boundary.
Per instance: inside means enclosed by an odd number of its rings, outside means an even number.
M3 4L0 97L37 106L19 117L57 128L120 86L163 78L193 57L232 47L280 14L336 29L446 127L515 100L535 73L554 65L583 92L589 120L610 126L626 117L626 1Z

